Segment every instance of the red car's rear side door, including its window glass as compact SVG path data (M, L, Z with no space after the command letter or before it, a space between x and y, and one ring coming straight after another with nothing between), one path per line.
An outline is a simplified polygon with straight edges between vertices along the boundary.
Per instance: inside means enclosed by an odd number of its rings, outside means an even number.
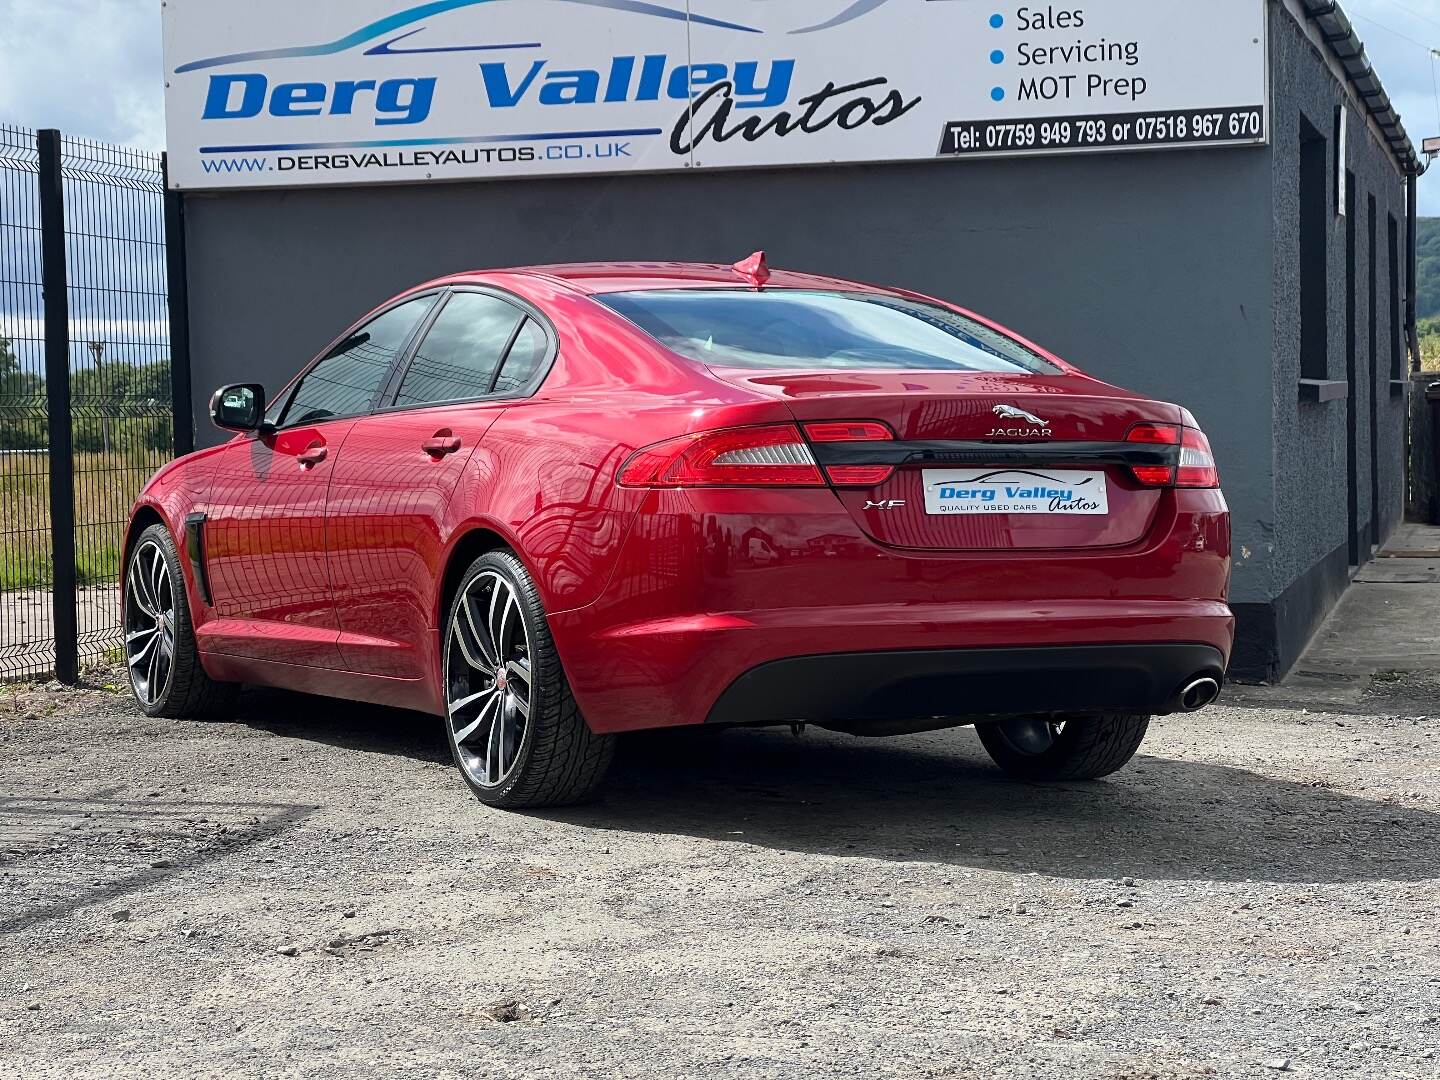
M543 374L552 333L510 298L456 289L387 408L356 423L330 485L330 580L346 667L426 678L442 520L481 438Z

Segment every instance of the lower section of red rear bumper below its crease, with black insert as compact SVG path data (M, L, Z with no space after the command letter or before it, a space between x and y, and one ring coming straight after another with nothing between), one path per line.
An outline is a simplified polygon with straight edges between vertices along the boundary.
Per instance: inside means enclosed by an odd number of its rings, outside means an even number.
M910 711L907 719L1165 711L1161 706L1181 680L1201 668L1225 670L1234 639L1234 616L1215 600L792 608L603 628L586 615L556 615L550 626L580 711L599 733L791 720L802 706L805 720L816 720L824 708L854 717L847 696L873 707L888 685L887 664L926 657L933 660L919 660L916 677L906 680L912 685L904 694L913 700L884 711ZM998 658L1005 660L995 667ZM1096 671L1086 670L1090 661L1100 664ZM1152 664L1158 670L1146 675ZM785 690L793 696L779 698L789 703L783 708L757 704L763 694L734 690L766 670L775 674L756 678L775 693L796 680L793 690ZM835 683L834 693L809 697L806 687L825 681ZM1066 693L1070 687L1084 693ZM979 690L992 696L984 707L975 697ZM736 697L721 708L730 694Z

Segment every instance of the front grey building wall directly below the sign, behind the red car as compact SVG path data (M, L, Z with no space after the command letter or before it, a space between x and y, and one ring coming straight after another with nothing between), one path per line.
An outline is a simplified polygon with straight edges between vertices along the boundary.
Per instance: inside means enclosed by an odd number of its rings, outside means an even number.
M1254 523L1272 497L1269 203L1259 148L189 196L196 431L219 438L204 419L216 384L278 387L425 278L766 248L773 265L959 301L1102 379L1182 402L1228 467L1238 520ZM1241 531L1263 550L1253 524ZM1266 588L1237 579L1247 599Z

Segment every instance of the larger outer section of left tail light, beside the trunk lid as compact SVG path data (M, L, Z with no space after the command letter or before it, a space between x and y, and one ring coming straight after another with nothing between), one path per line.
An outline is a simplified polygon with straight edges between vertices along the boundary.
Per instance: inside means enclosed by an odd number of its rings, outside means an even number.
M825 480L793 423L683 435L635 451L619 482L632 488L824 487Z

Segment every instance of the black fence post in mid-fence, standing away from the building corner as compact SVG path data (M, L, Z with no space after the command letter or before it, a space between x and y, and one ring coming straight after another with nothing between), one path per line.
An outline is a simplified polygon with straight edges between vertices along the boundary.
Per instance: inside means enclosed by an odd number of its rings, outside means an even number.
M75 615L75 441L71 428L71 302L65 271L65 184L60 132L35 134L40 156L40 288L45 297L45 399L50 451L50 611L55 677L79 680L79 626Z

